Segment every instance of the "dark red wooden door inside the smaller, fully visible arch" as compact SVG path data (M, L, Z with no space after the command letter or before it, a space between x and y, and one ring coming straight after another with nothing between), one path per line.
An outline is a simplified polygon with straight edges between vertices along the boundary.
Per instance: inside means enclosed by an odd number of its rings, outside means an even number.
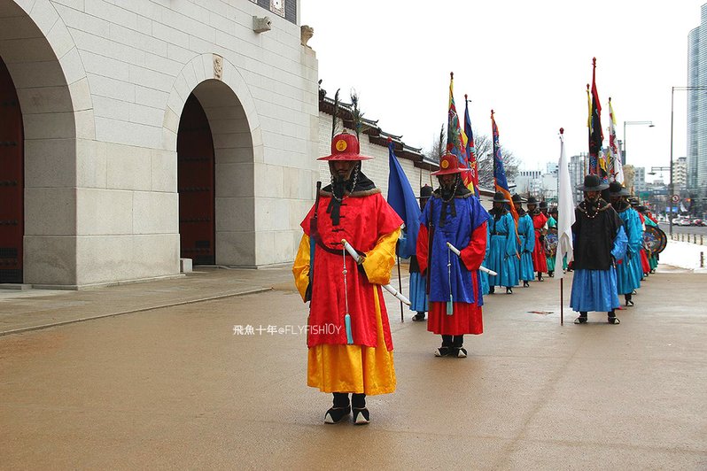
M214 265L214 141L206 113L193 94L179 121L177 188L181 257L195 265Z

